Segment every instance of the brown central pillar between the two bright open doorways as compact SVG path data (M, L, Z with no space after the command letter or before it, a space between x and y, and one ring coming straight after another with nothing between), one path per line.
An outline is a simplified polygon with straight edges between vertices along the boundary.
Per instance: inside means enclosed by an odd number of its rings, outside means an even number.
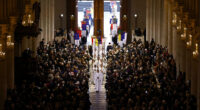
M103 20L104 20L104 1L94 0L94 35L95 36L98 36L99 34L101 36L104 35ZM101 31L101 33L98 34L99 30Z

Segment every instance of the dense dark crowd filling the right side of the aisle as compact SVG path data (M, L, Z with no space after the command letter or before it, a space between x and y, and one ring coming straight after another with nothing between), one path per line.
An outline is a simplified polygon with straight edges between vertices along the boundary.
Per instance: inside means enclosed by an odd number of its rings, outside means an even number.
M109 110L196 110L196 98L167 48L134 40L107 53Z

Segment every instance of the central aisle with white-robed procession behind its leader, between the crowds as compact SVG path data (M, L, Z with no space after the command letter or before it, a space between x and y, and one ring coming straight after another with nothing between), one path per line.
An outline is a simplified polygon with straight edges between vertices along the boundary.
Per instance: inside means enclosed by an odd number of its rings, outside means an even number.
M106 55L105 55L105 41L99 46L93 45L93 62L90 62L90 85L89 85L89 95L90 95L90 110L106 110ZM95 49L96 47L96 49ZM96 65L96 68L95 68ZM99 69L103 73L103 83L101 84L101 89L99 92L95 90L94 84L94 72Z

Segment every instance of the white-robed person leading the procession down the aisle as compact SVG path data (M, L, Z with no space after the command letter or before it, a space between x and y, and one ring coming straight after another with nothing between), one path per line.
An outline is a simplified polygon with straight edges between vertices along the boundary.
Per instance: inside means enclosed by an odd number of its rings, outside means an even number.
M94 84L96 92L101 91L102 83L103 83L103 73L97 70L97 72L94 73Z

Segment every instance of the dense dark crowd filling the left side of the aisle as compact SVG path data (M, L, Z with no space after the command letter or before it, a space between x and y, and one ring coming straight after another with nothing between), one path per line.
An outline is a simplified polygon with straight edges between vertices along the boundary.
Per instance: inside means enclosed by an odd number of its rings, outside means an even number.
M85 46L64 38L37 50L38 70L9 90L6 110L88 110L89 59Z

